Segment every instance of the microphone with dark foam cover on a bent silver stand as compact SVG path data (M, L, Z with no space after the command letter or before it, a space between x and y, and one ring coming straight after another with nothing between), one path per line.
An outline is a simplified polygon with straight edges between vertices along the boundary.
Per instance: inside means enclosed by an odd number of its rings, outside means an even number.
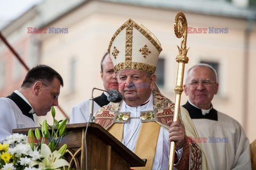
M90 98L90 103L89 103L89 113L90 113L90 118L89 118L89 122L93 122L93 120L95 119L95 117L93 116L93 103L94 103L94 98L93 98L93 91L94 90L100 90L100 91L106 91L106 90L102 90L102 89L98 89L98 88L93 88L92 89L92 96ZM109 92L106 91L109 95L107 97L108 101L117 103L119 101L121 101L123 99L122 94L117 91L117 90L110 90Z

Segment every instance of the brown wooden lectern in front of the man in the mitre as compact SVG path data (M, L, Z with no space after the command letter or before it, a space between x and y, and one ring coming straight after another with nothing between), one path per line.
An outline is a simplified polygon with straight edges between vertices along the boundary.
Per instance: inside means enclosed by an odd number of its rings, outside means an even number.
M98 124L89 123L85 136L86 126L87 123L67 124L67 130L72 133L63 139L60 147L63 143L68 145L65 158L71 165L70 169L86 169L86 162L87 169L102 170L146 165L146 159L140 159ZM36 128L13 129L13 133L27 134L29 129Z

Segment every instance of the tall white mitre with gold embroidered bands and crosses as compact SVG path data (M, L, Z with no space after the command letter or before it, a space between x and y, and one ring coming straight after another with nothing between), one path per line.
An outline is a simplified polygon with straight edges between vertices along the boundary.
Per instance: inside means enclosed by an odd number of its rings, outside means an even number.
M137 69L155 73L162 51L158 39L143 25L127 20L111 38L108 53L114 70Z

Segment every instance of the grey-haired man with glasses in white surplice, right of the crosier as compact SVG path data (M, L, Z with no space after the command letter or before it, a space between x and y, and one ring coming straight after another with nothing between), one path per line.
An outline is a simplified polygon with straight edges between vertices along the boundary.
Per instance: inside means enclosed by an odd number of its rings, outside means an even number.
M249 140L242 126L211 104L218 92L217 72L210 65L197 64L185 77L189 100L183 107L196 126L210 169L251 169Z

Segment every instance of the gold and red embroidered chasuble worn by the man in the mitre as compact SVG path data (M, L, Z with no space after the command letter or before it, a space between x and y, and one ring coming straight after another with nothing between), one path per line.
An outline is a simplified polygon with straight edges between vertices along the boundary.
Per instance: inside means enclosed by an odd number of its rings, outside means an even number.
M122 142L124 123L129 121L129 114L119 113L120 103L109 103L96 112L95 123L100 124L109 133ZM174 103L171 100L153 91L154 111L141 112L142 125L134 153L140 158L147 159L145 167L133 169L152 169L155 150L157 146L158 134L161 126L169 130L167 121L173 120ZM186 109L180 109L180 121L185 125L186 136L198 139L197 131L191 121ZM202 151L201 143L185 139L183 152L179 163L175 165L177 169L208 169L206 157Z

